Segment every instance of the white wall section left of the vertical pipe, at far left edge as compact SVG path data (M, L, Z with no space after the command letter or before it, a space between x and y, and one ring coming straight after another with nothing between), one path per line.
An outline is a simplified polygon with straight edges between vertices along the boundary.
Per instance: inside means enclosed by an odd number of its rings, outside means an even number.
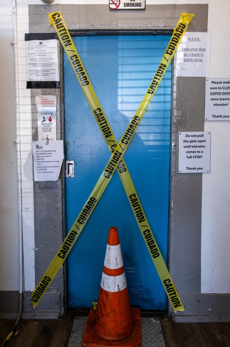
M0 290L19 290L18 180L12 6L0 3ZM7 71L7 73L6 73Z

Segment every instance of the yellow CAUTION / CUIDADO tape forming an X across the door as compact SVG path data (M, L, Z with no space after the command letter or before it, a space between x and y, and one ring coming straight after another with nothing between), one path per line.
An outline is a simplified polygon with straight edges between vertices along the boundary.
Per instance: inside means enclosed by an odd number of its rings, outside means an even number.
M125 188L126 195L129 199L130 205L132 207L133 213L135 215L136 221L138 222L139 228L141 230L142 236L144 238L145 244L148 247L149 253L151 255L152 261L156 266L157 272L163 284L163 287L166 290L169 301L174 308L174 311L184 311L184 306L178 296L174 283L170 277L168 269L165 262L163 261L162 255L159 251L159 248L154 240L152 231L148 225L147 219L145 217L144 211L142 209L140 200L135 191L134 185L132 183L131 177L127 170L126 164L122 157L129 146L133 135L137 127L140 124L142 117L144 116L145 111L148 108L150 101L154 93L156 92L158 85L165 74L166 69L168 68L176 49L187 29L187 26L194 15L183 13L174 29L170 42L167 46L166 52L160 62L160 65L157 69L156 74L154 75L152 82L148 88L147 93L145 94L138 110L133 116L129 126L127 127L121 141L117 143L116 138L109 126L108 120L105 117L104 111L97 99L95 91L89 81L88 75L83 67L83 64L79 58L78 52L74 46L74 43L71 39L70 33L67 29L67 26L64 22L64 19L61 15L61 12L54 12L49 14L49 19L51 25L53 24L57 34L59 35L60 41L63 45L63 48L69 58L71 66L74 70L74 73L77 76L77 79L80 83L83 93L86 96L86 99L89 103L90 109L97 120L98 126L101 129L101 132L105 138L109 150L112 152L112 155L103 170L99 180L97 181L96 186L94 187L92 193L90 194L87 202L83 206L80 214L78 215L76 221L74 222L71 230L68 235L65 237L64 242L62 243L59 251L56 253L54 259L52 260L50 266L46 270L41 281L39 281L37 287L33 291L32 295L28 299L30 303L33 304L33 307L36 307L42 296L45 294L46 290L50 286L63 262L67 258L69 252L71 251L74 243L78 239L80 232L88 221L92 211L96 207L97 202L99 201L101 195L103 194L106 186L108 185L110 179L112 178L115 169L118 168L119 175L122 180L122 184ZM111 145L108 142L113 141L114 144ZM144 226L141 226L141 223L144 222Z

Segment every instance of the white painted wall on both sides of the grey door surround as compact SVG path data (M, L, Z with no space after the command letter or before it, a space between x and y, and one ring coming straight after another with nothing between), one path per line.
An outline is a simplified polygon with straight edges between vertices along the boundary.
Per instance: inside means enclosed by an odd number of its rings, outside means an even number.
M0 81L0 170L1 170L1 243L0 290L18 289L18 202L16 146L14 144L14 71L11 0L0 1L1 65ZM21 145L23 160L23 236L25 289L34 287L34 220L31 154L30 91L26 90L24 33L28 32L28 4L42 0L17 0L19 35L19 83L21 111ZM54 0L53 3L104 3L108 0ZM147 4L209 3L208 29L212 33L209 77L230 77L228 57L230 1L227 0L146 0ZM49 5L47 5L49 6ZM2 30L3 29L3 30ZM6 74L6 70L8 73ZM230 123L206 122L211 131L211 172L203 175L202 190L202 259L203 293L230 293ZM13 255L13 256L12 256Z

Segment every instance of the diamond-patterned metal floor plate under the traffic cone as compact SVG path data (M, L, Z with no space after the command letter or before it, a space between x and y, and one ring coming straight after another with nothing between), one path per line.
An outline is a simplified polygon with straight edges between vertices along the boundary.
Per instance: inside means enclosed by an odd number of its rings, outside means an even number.
M81 347L87 317L76 317L68 347ZM141 318L142 347L166 347L159 318Z

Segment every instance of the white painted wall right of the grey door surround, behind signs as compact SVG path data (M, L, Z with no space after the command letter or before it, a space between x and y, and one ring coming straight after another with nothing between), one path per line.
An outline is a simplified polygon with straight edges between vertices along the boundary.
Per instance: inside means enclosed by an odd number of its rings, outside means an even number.
M230 1L210 1L209 77L230 77ZM230 122L205 122L211 131L211 172L203 174L201 291L230 293Z

